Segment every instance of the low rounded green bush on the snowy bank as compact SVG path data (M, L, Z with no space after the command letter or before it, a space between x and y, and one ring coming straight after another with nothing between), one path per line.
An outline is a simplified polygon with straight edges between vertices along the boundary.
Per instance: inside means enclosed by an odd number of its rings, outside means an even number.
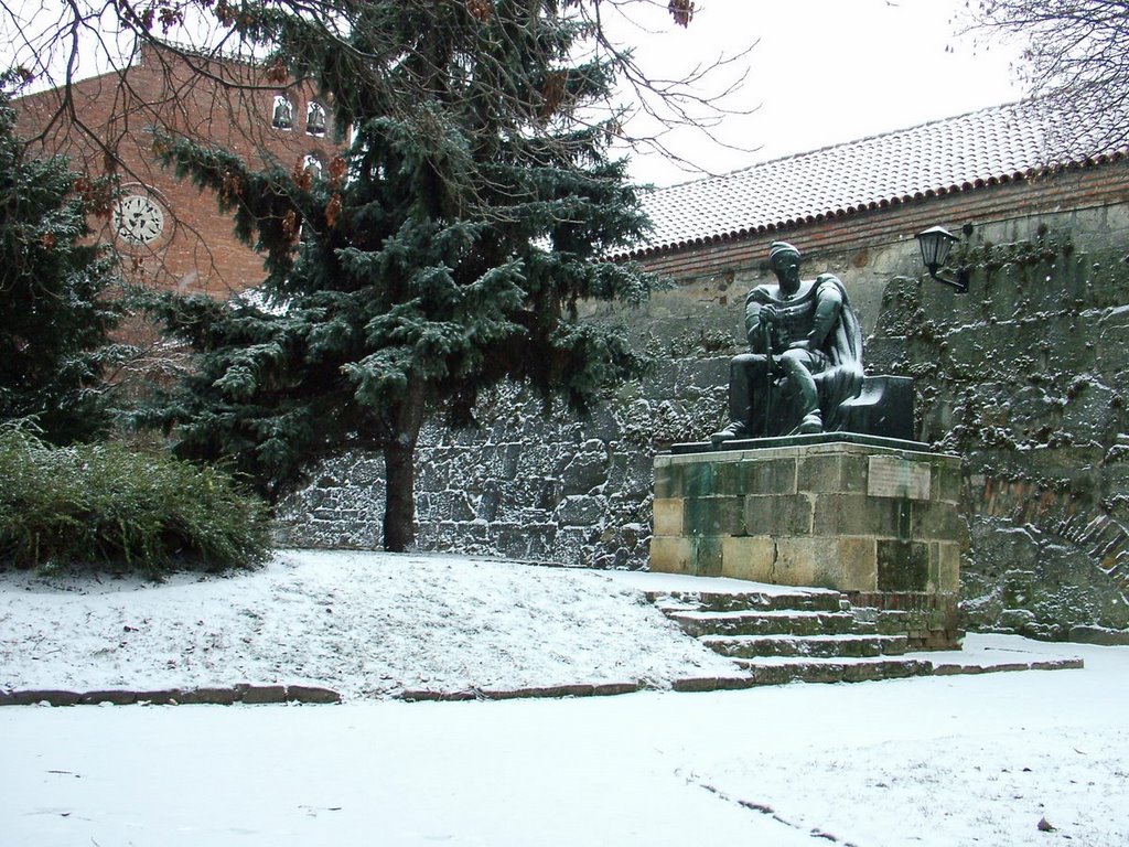
M0 428L0 562L147 576L248 568L270 553L265 504L211 468L116 443L53 447Z

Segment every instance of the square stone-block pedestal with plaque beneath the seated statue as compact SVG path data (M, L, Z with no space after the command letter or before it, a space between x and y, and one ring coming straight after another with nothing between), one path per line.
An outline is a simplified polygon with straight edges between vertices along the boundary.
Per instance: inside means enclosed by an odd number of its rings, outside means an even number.
M955 643L961 460L869 440L656 456L650 569L835 588Z

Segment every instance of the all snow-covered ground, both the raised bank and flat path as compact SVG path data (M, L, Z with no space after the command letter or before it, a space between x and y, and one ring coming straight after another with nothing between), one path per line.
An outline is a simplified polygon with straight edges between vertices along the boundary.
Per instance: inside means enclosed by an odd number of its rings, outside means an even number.
M1086 667L378 699L726 672L639 602L645 579L342 553L158 587L0 576L0 687L282 680L349 697L0 708L0 846L1129 844L1126 647L970 637Z

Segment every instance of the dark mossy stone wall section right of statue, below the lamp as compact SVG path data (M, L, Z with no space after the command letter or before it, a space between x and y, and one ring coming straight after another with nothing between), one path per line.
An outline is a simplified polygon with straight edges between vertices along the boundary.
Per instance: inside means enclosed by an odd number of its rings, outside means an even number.
M1129 626L1127 252L1123 207L1052 216L978 229L965 297L886 288L872 360L916 377L921 437L965 460L971 627Z

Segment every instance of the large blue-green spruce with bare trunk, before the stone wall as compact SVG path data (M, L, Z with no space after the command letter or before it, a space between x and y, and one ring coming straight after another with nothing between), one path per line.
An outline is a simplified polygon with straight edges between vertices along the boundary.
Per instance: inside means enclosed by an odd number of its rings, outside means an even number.
M613 79L575 60L590 30L574 5L371 0L352 8L348 49L317 21L244 7L246 32L316 80L352 138L322 175L160 142L268 272L257 299L158 309L199 351L157 416L180 425L178 453L228 457L277 498L326 454L380 449L384 544L402 550L430 416L466 425L507 379L584 412L639 373L621 330L578 316L585 300L638 302L653 280L605 259L646 221L609 157L614 115L594 119Z

